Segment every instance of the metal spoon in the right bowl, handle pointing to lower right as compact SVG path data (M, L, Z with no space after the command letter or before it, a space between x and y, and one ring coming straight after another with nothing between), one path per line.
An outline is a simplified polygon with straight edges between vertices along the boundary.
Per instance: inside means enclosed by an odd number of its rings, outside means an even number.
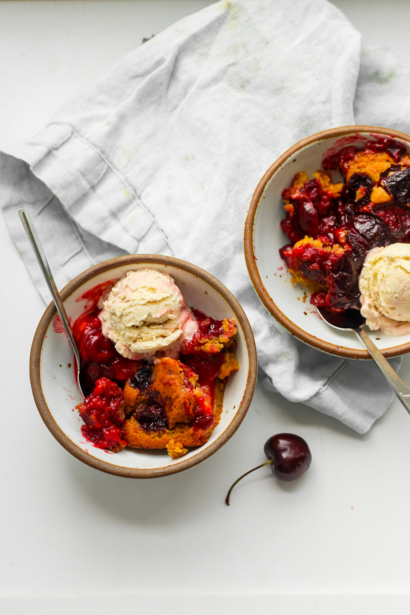
M354 331L360 339L363 346L366 346L372 359L376 362L377 367L384 375L388 384L400 399L404 408L410 415L410 389L406 387L403 380L393 370L388 360L382 355L379 349L373 344L366 331L361 328L365 324L366 319L360 314L358 309L347 309L342 312L331 312L325 308L317 308L321 318L328 325L339 331Z

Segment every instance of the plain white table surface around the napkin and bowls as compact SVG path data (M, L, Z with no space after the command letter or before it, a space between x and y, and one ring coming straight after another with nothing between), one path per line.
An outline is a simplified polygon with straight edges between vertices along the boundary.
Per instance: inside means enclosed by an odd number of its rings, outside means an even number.
M0 148L71 93L209 0L0 2ZM409 63L410 2L337 0L366 43ZM0 613L408 613L410 419L398 401L366 435L258 382L235 436L183 474L130 480L69 455L28 377L44 303L0 216ZM410 359L402 378L410 383ZM381 377L381 376L380 376ZM267 437L312 450L301 480L259 470ZM156 598L153 598L153 597Z

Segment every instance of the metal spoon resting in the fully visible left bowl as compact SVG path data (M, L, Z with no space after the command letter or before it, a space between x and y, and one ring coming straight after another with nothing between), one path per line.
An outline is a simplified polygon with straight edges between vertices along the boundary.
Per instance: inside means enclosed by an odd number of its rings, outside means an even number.
M28 240L30 241L31 247L33 248L33 252L36 255L38 264L40 266L41 272L44 276L45 282L47 282L47 286L49 287L49 291L55 303L55 307L57 308L57 312L60 315L61 322L64 325L66 330L68 341L73 347L74 357L75 357L75 365L74 370L77 370L77 389L84 399L85 395L82 392L81 384L80 384L80 367L81 367L81 359L79 349L77 348L76 341L73 335L73 329L71 328L71 324L69 322L69 318L67 312L65 310L63 301L61 300L60 294L58 293L57 286L55 285L53 274L50 271L49 263L47 263L47 258L45 258L44 250L42 249L41 242L39 240L39 236L37 235L36 228L34 226L33 220L31 218L28 207L21 207L18 210L18 215L20 216L20 220L22 220L24 229L27 233Z

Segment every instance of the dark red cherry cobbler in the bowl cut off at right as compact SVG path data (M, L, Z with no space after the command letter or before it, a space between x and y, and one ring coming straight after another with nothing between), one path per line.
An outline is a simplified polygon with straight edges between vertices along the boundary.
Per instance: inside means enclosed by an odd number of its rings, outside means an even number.
M371 202L373 181L359 172L352 174L340 196L326 192L317 179L282 192L287 211L281 226L291 245L281 248L280 256L288 268L327 288L313 293L310 303L336 311L360 309L358 277L371 248L410 242L410 168L397 164L406 148L380 138L368 141L364 151L386 152L396 163L380 173L385 202ZM355 146L343 148L325 159L323 168L346 175L357 152ZM305 236L312 237L313 244L294 247Z

